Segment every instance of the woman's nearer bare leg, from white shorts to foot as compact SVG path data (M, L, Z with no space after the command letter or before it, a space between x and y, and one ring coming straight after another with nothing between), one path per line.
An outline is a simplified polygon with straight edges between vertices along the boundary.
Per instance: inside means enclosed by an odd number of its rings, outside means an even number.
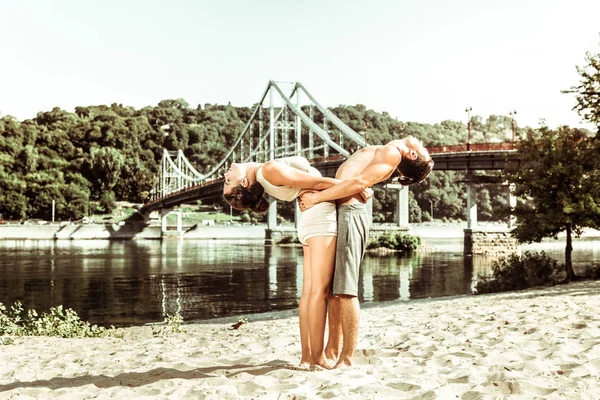
M313 237L306 241L310 248L310 295L308 298L308 330L313 364L331 368L323 353L327 298L331 290L335 264L335 237ZM312 365L311 365L312 367Z

